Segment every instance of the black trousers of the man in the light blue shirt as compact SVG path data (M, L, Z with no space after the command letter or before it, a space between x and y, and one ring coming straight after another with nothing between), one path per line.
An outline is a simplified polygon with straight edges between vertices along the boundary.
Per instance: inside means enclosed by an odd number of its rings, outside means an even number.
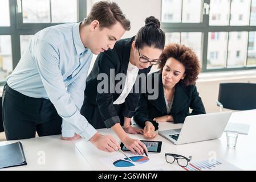
M11 89L3 89L3 126L7 140L61 134L62 118L54 105L45 98L25 96Z

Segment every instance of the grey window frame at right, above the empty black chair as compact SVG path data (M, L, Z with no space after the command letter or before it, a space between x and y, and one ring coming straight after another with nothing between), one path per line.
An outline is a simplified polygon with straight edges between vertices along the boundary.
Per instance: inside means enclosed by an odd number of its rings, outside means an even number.
M161 0L161 17L162 17L162 1ZM256 32L256 26L250 26L251 21L251 0L250 0L250 14L249 14L249 26L210 26L209 25L209 16L210 13L206 14L204 10L204 5L208 4L210 7L210 0L202 0L202 22L201 23L162 23L161 27L165 31L165 33L174 33L174 32L202 32L201 39L201 72L226 72L226 71L242 71L255 69L255 66L247 65L247 54L249 49L249 34L250 32ZM231 1L230 1L231 7ZM229 17L230 17L230 9L229 9ZM230 24L230 19L229 19ZM229 40L229 32L248 32L247 39L247 48L246 48L246 61L243 67L238 68L227 68L227 60L225 60L225 68L213 68L207 69L207 54L208 54L208 34L209 32L227 32L227 40ZM229 41L227 41L227 51L229 50ZM226 52L227 55L227 52ZM247 67L246 67L247 65Z

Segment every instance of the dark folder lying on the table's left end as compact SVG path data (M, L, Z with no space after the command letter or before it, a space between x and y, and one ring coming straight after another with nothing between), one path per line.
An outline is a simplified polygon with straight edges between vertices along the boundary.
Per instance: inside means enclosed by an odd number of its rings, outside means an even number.
M27 165L21 142L0 146L0 168Z

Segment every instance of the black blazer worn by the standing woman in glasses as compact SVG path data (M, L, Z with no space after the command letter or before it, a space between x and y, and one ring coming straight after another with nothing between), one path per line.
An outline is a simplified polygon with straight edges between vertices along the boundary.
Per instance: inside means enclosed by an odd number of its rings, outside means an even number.
M115 70L114 76L116 76L118 73L124 73L125 75L127 74L131 45L134 38L135 37L133 36L129 39L119 40L116 42L113 49L100 53L100 55L97 56L94 67L86 80L86 90L84 91L85 97L91 102L91 104L97 105L101 117L103 117L107 127L111 127L115 125L115 123L120 122L120 118L118 117L120 114L117 113L113 102L120 96L121 93L116 93L115 89L112 90L112 92L109 92L111 89L111 84L113 88L113 86L116 86L120 80L111 78L110 69ZM150 69L151 67L139 70L138 75L142 73L148 74ZM109 78L108 93L97 92L97 85L101 82L97 81L97 76L100 73L105 73ZM123 81L125 82L125 80ZM133 85L133 90L134 89L135 88ZM123 106L121 109L121 114L123 116L128 118L133 117L139 96L139 93L134 92L128 94L127 98L125 98L124 104L122 104Z

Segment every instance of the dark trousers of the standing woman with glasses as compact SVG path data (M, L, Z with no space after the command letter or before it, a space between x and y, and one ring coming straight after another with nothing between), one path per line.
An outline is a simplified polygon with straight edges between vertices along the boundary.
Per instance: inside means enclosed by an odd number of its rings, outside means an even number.
M121 110L123 108L123 104L114 105L116 112L120 118L120 125L124 125L124 116L121 114ZM87 119L87 121L95 128L95 129L105 129L107 126L104 123L104 119L100 114L99 107L94 105L88 100L86 96L84 96L83 106L81 108L81 114Z

